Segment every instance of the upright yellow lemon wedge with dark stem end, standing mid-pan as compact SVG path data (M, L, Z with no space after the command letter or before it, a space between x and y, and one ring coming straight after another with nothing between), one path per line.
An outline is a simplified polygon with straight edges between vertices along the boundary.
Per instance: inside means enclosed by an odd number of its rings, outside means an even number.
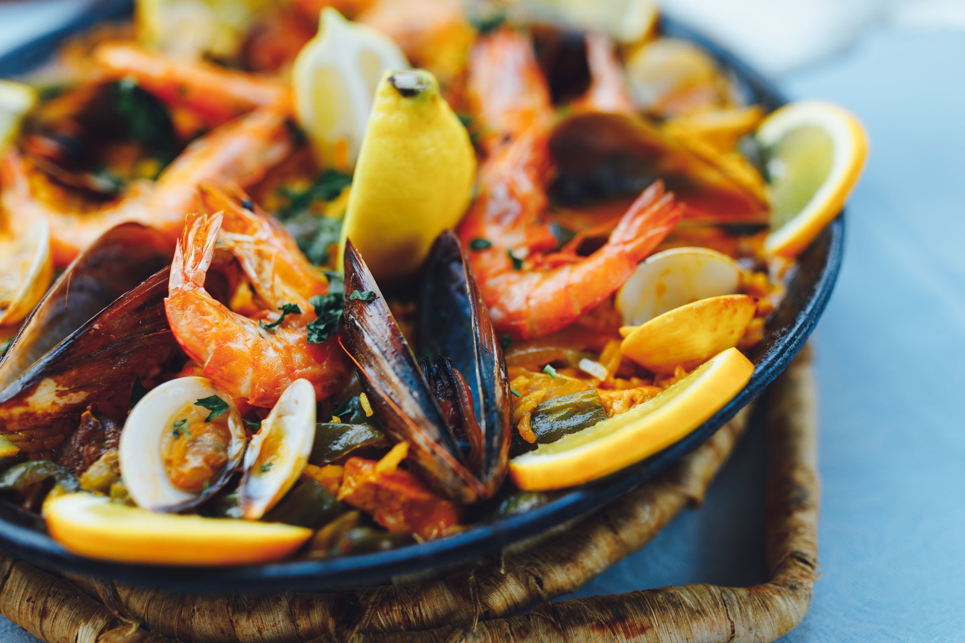
M465 126L425 69L386 73L352 179L340 255L351 239L376 279L418 270L462 218L476 180Z

